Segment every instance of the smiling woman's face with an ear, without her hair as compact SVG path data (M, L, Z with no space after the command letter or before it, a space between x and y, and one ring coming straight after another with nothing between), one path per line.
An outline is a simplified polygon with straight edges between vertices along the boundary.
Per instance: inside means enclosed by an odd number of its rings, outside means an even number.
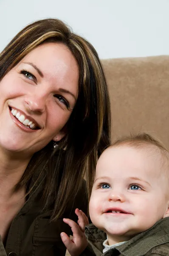
M78 96L79 68L61 43L32 50L0 81L0 150L34 154L64 137Z

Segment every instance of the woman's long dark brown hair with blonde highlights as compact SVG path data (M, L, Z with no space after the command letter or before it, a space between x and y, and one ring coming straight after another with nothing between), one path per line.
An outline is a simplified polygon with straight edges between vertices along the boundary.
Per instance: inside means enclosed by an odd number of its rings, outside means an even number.
M96 161L110 145L111 115L107 83L96 50L61 20L39 20L22 29L0 54L0 80L31 50L48 42L65 44L76 58L79 65L79 96L66 124L66 136L55 150L57 152L54 152L50 142L35 153L19 184L27 185L39 164L44 163L45 169L40 176L45 172L45 206L51 195L54 196L54 220L61 218L65 209L72 206L73 199L70 198L75 198L84 175L90 195ZM58 154L55 166L54 153Z

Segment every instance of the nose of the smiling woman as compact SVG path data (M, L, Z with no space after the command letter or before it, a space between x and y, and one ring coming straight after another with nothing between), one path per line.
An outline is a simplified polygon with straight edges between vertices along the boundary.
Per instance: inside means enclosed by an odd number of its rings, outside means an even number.
M27 95L24 99L25 108L28 111L43 113L45 111L45 96Z

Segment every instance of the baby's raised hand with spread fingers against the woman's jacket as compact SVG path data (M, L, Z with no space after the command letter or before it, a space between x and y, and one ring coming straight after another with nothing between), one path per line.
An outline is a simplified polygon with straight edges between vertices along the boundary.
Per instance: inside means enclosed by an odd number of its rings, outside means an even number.
M68 218L63 219L63 221L71 227L73 232L73 239L70 240L68 235L64 232L60 234L62 242L65 244L71 256L79 256L87 247L85 226L89 224L88 218L85 213L79 209L76 209L75 213L78 216L78 224Z

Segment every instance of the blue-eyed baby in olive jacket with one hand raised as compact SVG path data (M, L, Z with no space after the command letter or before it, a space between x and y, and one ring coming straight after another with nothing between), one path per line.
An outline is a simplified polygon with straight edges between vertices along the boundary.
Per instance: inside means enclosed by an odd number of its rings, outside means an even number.
M169 255L169 151L148 134L116 141L98 160L89 203L76 209L71 256ZM85 235L84 235L85 228Z

